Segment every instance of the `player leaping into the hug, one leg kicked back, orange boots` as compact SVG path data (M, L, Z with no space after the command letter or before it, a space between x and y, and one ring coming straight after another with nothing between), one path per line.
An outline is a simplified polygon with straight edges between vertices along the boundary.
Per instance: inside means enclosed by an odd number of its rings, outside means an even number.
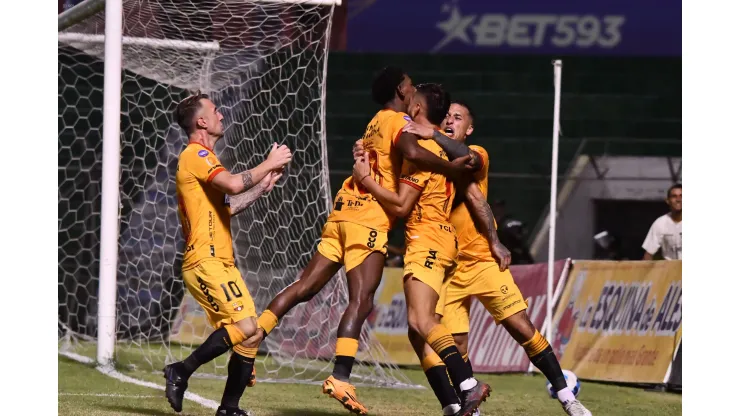
M401 129L411 120L405 111L413 93L411 79L400 68L386 67L373 80L373 100L383 108L368 123L362 141L371 153L373 178L393 193L398 185L402 156L453 176L471 169L468 158L453 162L440 159L421 148L416 136L402 134ZM358 400L349 378L360 331L372 311L375 290L382 278L388 231L394 219L359 182L347 178L337 192L317 252L301 277L282 290L258 319L259 327L268 335L280 318L294 306L313 298L344 265L349 303L337 328L334 370L324 381L322 390L358 414L367 414L367 408Z

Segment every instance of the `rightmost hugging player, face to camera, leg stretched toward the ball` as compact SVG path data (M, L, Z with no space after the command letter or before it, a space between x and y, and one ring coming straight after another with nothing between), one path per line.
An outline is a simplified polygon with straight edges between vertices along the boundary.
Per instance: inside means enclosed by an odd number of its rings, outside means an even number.
M462 144L473 133L473 123L474 114L470 106L460 101L453 102L445 120L444 131L457 143ZM421 137L440 135L433 129L415 123L408 124L404 130ZM436 139L444 142L444 138ZM482 168L472 175L472 181L466 185L468 193L475 196L468 198L467 203L456 206L450 216L450 221L457 231L459 253L457 269L447 286L444 305L437 309L437 312L443 315L442 324L452 332L455 344L472 372L467 351L470 304L472 297L475 296L495 322L503 325L521 344L532 364L547 377L553 390L557 392L565 412L572 416L590 416L591 412L576 400L567 388L552 347L529 320L526 314L527 304L508 270L510 254L498 240L495 227L481 227L479 224L476 228L474 218L481 215L490 217L488 224L495 222L490 206L486 202L488 153L480 146L470 146L470 149L480 155ZM471 213L474 215L471 216ZM482 233L478 231L479 229L483 230Z

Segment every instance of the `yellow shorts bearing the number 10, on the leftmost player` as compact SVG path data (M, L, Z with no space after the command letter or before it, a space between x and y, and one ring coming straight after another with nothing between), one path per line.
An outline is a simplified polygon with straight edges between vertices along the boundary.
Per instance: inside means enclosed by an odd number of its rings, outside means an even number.
M183 270L182 280L216 329L257 317L247 285L232 264L204 260L192 269Z

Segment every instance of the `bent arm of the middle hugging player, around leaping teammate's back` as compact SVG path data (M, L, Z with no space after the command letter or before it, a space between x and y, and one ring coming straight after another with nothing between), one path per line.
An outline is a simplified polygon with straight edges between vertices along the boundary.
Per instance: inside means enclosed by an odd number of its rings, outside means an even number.
M365 153L364 157L355 161L353 168L352 175L357 183L364 186L389 214L394 217L409 215L421 195L422 188L410 186L402 181L398 186L398 193L395 193L380 186L370 173L369 155Z

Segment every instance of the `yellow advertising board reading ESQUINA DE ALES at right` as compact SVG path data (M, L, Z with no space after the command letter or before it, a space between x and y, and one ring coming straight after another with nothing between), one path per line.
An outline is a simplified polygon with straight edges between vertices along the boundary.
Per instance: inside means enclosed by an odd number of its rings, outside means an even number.
M681 261L576 262L553 349L583 379L665 383L681 337Z

